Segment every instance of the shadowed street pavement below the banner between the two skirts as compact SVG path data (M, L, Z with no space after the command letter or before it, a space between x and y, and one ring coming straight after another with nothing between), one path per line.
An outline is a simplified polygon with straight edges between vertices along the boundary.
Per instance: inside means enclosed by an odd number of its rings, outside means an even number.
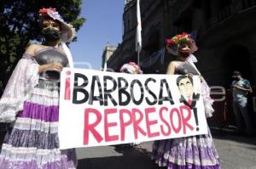
M154 162L144 148L149 149L150 143L142 144L136 149L118 148L117 146L77 149L79 156L78 169L155 169Z

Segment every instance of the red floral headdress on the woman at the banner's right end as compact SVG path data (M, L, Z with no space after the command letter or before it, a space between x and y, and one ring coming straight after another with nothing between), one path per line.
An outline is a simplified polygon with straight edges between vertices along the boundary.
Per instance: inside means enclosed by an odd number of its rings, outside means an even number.
M171 54L177 55L178 49L181 44L186 43L189 45L189 53L192 54L197 50L194 39L186 32L178 34L172 38L166 39L167 51Z

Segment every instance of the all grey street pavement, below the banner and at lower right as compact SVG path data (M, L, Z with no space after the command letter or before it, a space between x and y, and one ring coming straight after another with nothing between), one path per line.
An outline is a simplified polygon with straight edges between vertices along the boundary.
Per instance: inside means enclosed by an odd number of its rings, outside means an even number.
M213 133L222 169L256 169L256 137ZM78 169L157 169L150 160L153 142L136 148L116 146L77 149Z

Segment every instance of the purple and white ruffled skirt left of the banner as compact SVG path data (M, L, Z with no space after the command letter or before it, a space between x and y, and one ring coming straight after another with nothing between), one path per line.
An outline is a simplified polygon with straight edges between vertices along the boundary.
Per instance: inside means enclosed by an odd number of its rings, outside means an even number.
M59 149L58 105L58 83L40 79L4 139L0 169L75 169L75 149Z

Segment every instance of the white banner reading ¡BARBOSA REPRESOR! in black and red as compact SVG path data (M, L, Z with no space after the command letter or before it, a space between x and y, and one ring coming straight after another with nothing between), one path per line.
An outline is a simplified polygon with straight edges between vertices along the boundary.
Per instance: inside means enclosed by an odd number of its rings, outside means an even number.
M61 72L61 149L206 133L198 76Z

